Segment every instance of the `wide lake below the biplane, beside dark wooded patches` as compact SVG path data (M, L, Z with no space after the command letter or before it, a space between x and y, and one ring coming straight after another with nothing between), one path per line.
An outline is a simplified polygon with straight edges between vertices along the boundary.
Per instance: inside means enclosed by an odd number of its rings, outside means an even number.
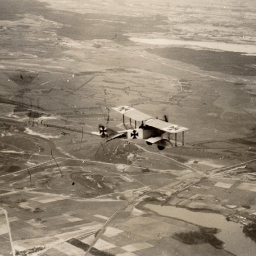
M152 210L162 216L178 218L192 224L207 228L220 229L215 236L224 242L224 249L238 256L255 256L256 243L246 237L242 225L227 221L225 216L218 213L192 212L191 210L173 207L171 205L146 204L146 209Z

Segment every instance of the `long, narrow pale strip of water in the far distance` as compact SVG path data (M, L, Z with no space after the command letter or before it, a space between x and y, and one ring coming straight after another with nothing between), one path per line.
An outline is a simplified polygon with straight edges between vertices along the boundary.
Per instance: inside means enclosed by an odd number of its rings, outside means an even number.
M216 49L228 52L247 53L246 55L256 55L256 45L254 44L233 44L225 42L204 42L192 40L175 40L164 38L129 38L133 42L143 44L154 44L158 46L196 46L208 49Z

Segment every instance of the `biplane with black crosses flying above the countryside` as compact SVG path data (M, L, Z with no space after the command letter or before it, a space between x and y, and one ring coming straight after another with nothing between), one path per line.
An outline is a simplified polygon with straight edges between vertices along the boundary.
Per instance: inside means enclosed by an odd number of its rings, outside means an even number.
M159 150L164 150L165 147L173 144L177 146L177 134L182 133L181 144L184 145L184 131L188 128L168 122L166 115L164 121L131 106L117 106L112 109L122 114L123 122L117 127L122 127L123 130L115 131L107 126L98 125L99 131L93 131L92 134L108 138L107 142L117 138L143 139L148 145L156 144ZM125 122L125 118L129 118L129 123ZM174 135L174 138L171 138L171 135Z

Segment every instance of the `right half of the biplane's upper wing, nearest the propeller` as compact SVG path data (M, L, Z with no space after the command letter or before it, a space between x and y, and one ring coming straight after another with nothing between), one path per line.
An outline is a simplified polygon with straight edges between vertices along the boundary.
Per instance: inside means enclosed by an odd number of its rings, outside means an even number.
M154 127L156 129L166 131L167 133L180 133L181 131L187 131L188 128L175 125L174 123L169 123L162 121L160 119L149 119L145 122L145 125Z

